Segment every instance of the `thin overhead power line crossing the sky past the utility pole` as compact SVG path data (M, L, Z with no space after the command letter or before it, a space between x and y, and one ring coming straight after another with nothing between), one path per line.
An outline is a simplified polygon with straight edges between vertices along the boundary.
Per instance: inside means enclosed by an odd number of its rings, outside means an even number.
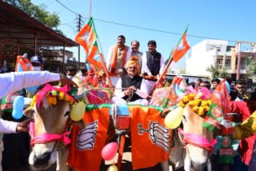
M64 4L62 4L62 2L59 2L58 0L55 0L56 2L58 2L59 4L61 4L64 8L66 8L66 10L70 10L70 8L68 8L67 6L65 6ZM77 14L74 12L74 10L70 10L70 12L76 14L79 16L78 21L81 20L82 15ZM164 33L164 34L175 34L175 35L182 35L179 33L175 33L175 32L170 32L170 31L165 31L165 30L156 30L156 29L150 29L150 28L146 28L146 27L142 27L142 26L133 26L133 25L128 25L128 24L122 24L122 23L118 23L118 22L110 22L110 21L106 21L106 20L102 20L102 19L96 19L94 18L94 20L98 21L98 22L106 22L106 23L110 23L110 24L114 24L114 25L119 25L119 26L128 26L128 27L133 27L136 29L141 29L141 30L150 30L150 31L155 31L155 32L159 32L159 33ZM80 27L81 28L81 27ZM79 26L78 26L79 29ZM186 34L187 37L191 37L191 38L203 38L203 39L215 39L215 40L226 40L228 42L238 42L235 40L229 40L229 39L223 39L223 38L209 38L209 37L204 37L204 36L198 36L198 35L192 35L192 34Z

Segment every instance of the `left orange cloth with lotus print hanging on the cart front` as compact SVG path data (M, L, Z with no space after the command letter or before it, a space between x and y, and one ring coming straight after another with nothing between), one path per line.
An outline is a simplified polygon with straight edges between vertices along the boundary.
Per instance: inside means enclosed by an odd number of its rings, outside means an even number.
M102 162L102 149L106 144L110 108L107 105L86 106L85 129L74 125L71 133L68 165L79 170L99 170Z

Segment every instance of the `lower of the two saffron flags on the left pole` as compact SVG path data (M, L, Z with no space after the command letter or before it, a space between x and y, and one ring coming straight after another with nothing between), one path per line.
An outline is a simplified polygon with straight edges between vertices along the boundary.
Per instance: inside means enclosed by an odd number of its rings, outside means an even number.
M98 70L102 70L101 56L98 53L98 43L95 42L94 46L90 50L90 54L86 58L87 62L90 62L93 66L97 67Z

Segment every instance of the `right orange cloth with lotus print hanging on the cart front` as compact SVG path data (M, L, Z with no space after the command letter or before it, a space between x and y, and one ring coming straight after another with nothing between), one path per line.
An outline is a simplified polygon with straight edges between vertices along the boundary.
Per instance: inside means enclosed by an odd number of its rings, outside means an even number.
M166 128L161 109L129 106L133 169L148 168L167 161L171 151L172 130Z

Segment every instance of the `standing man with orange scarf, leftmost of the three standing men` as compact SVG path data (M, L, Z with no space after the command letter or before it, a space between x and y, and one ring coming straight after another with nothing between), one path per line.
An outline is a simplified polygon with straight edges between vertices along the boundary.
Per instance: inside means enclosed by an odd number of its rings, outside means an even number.
M111 46L106 56L106 69L110 72L110 80L114 86L118 82L118 70L130 59L130 47L125 46L125 42L126 38L123 35L118 36L118 44Z

